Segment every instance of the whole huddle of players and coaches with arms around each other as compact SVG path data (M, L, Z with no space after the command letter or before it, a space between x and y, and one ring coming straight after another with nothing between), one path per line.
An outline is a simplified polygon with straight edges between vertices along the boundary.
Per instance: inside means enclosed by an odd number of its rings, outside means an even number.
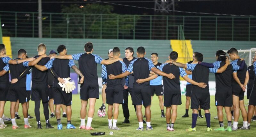
M256 62L247 68L243 59L240 59L238 51L235 48L228 50L228 56L222 50L216 52L216 62L203 62L203 54L195 52L193 61L187 64L177 62L178 53L172 51L169 60L164 64L159 63L158 54L152 53L151 60L145 58L145 48L138 47L137 58L133 57L132 47L125 49L125 58L120 58L120 49L114 47L108 51L108 59L104 60L99 55L92 54L93 44L87 42L84 45L85 53L67 54L64 45L57 48L57 53L52 50L49 57L46 53L46 45L38 45L38 55L28 58L24 49L18 51L18 57L11 59L6 55L4 44L0 44L0 129L5 128L3 121L4 105L6 101L11 102L10 113L12 129L17 129L15 117L15 106L22 105L24 116L24 128L31 128L28 123L28 101L35 101L35 116L37 128L41 129L40 122L40 103L42 100L44 107L44 116L46 128L54 128L50 124L49 109L51 117L57 119L57 129L63 128L61 123L60 108L64 106L65 116L67 117L67 129L75 129L71 124L72 116L72 90L74 83L70 82L70 68L79 76L81 84L80 99L80 129L93 130L91 124L95 112L96 99L99 99L99 84L97 75L97 64L102 64L102 101L103 104L98 112L105 112L108 104L108 129L120 130L116 126L119 105L122 104L124 113L124 122L129 121L128 95L132 97L132 105L136 112L139 122L137 130L142 131L143 123L146 123L146 130L153 130L151 126L151 101L156 93L159 99L161 117L166 118L167 131L175 131L174 124L177 118L177 108L181 105L180 76L187 81L186 87L186 113L182 117L188 116L189 104L192 109L192 124L187 131L196 131L197 118L203 118L201 109L204 110L206 119L206 130L212 131L210 114L210 92L209 92L209 73L214 73L216 78L215 105L217 107L218 120L220 127L215 131L229 131L237 129L250 129L251 119L256 118L254 111L256 109L256 83L254 80ZM51 58L50 58L51 57ZM229 61L232 60L232 62ZM78 61L79 68L76 67L73 60ZM256 61L256 56L253 58ZM32 86L30 91L26 89L27 74L32 68ZM185 69L184 69L185 68ZM9 81L9 71L11 82ZM250 75L249 75L250 73ZM251 78L251 74L252 77ZM163 76L163 84L162 84ZM50 82L49 82L50 81ZM29 82L30 83L30 82ZM247 85L248 83L248 85ZM249 85L250 84L250 85ZM244 106L244 91L250 94L248 113ZM53 113L53 100L55 105L55 115ZM18 102L19 101L19 102ZM87 105L89 108L87 110ZM143 119L142 105L145 108L146 121ZM65 108L66 107L66 108ZM164 107L166 113L164 114ZM223 124L223 108L227 115L227 128ZM237 127L240 110L243 117L243 126ZM64 113L63 113L64 115ZM87 115L87 123L85 118ZM100 115L99 115L100 116ZM232 118L234 122L232 125ZM113 119L113 122L112 122Z

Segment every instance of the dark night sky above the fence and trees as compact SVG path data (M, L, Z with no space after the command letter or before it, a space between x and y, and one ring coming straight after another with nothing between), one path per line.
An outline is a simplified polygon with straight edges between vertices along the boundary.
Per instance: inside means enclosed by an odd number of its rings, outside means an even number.
M44 3L44 2L56 2L56 3ZM130 2L130 3L118 3L127 4L141 7L154 8L154 0L101 0L105 2L115 2L115 1L140 1ZM143 2L144 1L144 2ZM147 2L145 2L147 1ZM183 1L183 2L182 2ZM4 3L10 2L10 3ZM34 2L34 3L19 3L19 2ZM43 12L60 12L61 5L78 4L85 5L91 0L42 0ZM72 3L61 3L61 2L72 2ZM82 3L76 3L82 2ZM104 3L101 3L104 4ZM154 10L124 7L124 6L114 6L114 13L118 14L138 14L138 15L154 15ZM1 0L0 1L0 11L28 11L37 12L37 0ZM219 14L236 14L236 15L255 15L256 16L256 0L175 0L175 10L178 11L191 11L191 12L207 12L207 13L219 13ZM86 7L84 7L86 8ZM172 13L170 15L173 15ZM188 13L178 13L175 12L174 15L204 15L204 14L188 14Z

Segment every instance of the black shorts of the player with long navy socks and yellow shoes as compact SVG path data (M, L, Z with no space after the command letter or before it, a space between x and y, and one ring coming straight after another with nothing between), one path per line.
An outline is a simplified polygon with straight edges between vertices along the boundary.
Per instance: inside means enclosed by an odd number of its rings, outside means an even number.
M210 92L204 91L204 92L191 92L191 109L198 109L199 106L203 110L210 109Z

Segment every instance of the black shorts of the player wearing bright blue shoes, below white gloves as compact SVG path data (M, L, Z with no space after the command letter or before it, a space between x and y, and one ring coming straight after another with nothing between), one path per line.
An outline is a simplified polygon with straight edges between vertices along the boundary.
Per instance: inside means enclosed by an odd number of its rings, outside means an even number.
M63 104L69 106L72 104L72 92L66 93L61 88L52 88L52 91L55 105Z

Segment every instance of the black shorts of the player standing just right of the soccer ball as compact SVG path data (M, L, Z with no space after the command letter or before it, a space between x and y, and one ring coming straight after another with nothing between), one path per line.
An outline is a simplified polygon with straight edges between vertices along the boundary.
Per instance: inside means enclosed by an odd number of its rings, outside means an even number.
M108 89L106 91L107 104L113 105L124 103L124 89Z

